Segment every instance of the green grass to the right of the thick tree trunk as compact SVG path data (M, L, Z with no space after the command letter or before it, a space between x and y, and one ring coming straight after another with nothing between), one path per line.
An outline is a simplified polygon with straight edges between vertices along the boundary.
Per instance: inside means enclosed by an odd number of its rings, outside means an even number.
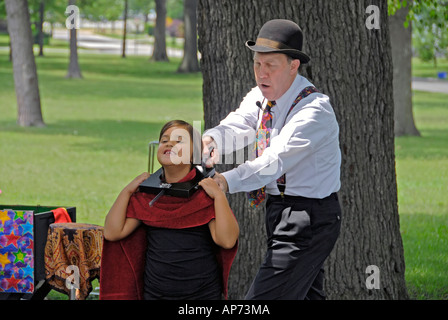
M421 137L396 139L406 281L414 299L448 299L448 95L415 92Z

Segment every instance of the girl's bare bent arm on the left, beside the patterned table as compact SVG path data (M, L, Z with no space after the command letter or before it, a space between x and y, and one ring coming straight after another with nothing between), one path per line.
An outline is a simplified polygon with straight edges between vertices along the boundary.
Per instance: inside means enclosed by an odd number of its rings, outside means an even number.
M104 238L106 240L117 241L126 238L140 225L140 220L126 218L126 210L131 195L148 177L149 173L142 173L120 192L104 222Z

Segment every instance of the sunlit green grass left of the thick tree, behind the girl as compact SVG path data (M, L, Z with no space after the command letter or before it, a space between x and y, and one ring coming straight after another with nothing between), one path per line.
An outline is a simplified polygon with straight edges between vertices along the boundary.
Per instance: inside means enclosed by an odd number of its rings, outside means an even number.
M147 169L148 142L171 119L202 119L201 76L179 60L84 55L84 79L65 79L67 57L37 58L46 128L16 125L11 63L0 56L0 202L72 205L102 224L124 184Z

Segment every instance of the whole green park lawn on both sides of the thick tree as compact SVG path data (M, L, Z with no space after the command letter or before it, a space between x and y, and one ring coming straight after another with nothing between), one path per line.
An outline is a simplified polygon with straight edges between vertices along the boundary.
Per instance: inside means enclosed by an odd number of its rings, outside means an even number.
M161 126L203 119L202 78L175 73L175 59L82 54L84 79L70 80L67 59L36 59L47 127L20 128L11 63L0 52L0 203L76 206L78 222L102 225L120 190L147 170ZM415 92L422 137L396 139L406 280L417 299L448 298L446 99Z

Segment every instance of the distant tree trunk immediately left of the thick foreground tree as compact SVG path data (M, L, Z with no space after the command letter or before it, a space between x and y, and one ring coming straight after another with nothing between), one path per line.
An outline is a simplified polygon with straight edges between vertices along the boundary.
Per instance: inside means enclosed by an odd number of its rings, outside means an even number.
M177 69L177 72L198 72L198 33L197 33L197 15L196 9L198 0L185 0L184 2L184 24L185 24L185 43L184 58Z

